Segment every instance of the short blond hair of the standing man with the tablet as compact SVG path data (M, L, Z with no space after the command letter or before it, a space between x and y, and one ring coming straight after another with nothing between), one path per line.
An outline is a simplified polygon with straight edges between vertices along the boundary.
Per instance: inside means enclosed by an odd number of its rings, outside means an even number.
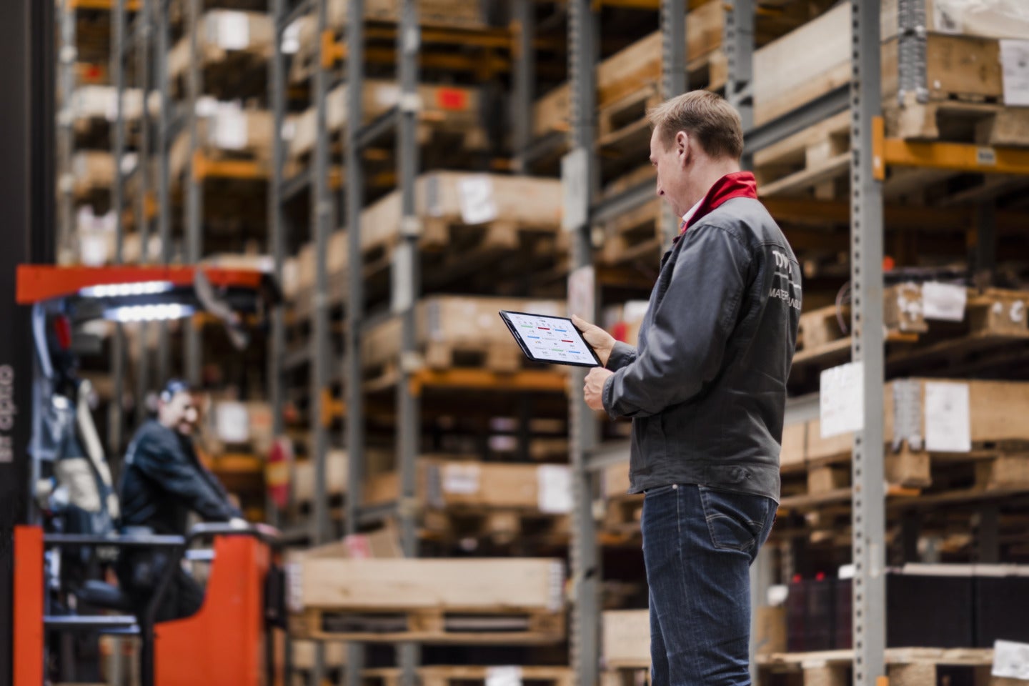
M710 91L690 91L666 100L651 108L647 118L661 132L666 150L675 142L675 135L684 131L714 158L739 159L743 154L740 113Z

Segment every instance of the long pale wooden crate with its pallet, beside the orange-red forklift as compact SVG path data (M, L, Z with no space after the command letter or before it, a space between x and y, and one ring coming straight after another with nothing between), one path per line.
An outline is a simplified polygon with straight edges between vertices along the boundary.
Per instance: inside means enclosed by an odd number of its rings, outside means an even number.
M565 638L558 559L355 559L316 549L288 575L297 637L465 645Z

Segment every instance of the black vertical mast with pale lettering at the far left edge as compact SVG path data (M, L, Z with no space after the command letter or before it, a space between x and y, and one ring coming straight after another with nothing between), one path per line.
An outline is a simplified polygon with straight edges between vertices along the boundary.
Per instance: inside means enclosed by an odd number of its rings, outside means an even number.
M0 686L12 683L13 528L29 520L31 308L16 266L54 261L54 2L8 0L0 22Z

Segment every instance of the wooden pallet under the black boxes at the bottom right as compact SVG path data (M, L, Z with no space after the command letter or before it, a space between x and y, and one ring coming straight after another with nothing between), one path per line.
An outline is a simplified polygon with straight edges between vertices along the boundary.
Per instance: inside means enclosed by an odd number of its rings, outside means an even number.
M766 679L778 678L789 686L845 686L851 683L854 653L833 650L816 653L760 655L757 664ZM932 686L948 667L975 675L977 684L1009 686L1019 682L990 676L993 650L989 648L888 648L887 673L894 686ZM765 682L762 682L765 683Z

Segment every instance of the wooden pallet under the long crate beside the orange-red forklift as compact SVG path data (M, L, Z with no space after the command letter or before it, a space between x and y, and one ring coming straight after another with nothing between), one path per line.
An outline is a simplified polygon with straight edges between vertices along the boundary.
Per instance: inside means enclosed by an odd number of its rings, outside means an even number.
M507 608L496 612L346 612L312 608L290 618L290 633L319 641L545 645L565 640L565 615Z

